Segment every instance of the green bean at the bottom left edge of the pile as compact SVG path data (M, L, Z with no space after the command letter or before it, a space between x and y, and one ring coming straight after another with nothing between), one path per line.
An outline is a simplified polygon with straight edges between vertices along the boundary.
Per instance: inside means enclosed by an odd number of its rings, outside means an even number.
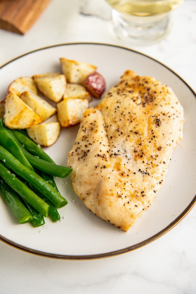
M19 223L28 223L33 217L18 197L18 194L0 178L0 191L6 204Z

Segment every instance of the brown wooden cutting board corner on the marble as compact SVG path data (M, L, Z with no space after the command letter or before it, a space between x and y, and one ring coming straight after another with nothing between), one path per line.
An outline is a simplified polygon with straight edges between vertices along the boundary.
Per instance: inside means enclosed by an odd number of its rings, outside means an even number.
M51 0L0 0L0 29L25 34Z

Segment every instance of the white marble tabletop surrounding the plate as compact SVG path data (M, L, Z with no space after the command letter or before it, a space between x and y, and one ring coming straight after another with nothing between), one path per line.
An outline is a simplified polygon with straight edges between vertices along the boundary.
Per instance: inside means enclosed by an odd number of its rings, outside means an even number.
M158 44L135 47L115 39L104 0L52 0L24 36L0 30L0 65L37 48L67 42L128 46L163 62L196 90L196 1L173 12ZM195 130L194 130L195 131ZM98 260L58 260L0 242L0 293L196 293L196 207L172 230L132 252Z

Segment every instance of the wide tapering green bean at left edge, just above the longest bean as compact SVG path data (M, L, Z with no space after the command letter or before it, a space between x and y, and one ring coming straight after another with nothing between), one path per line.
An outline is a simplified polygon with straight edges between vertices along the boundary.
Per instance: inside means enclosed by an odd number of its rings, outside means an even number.
M6 148L14 157L16 157L22 164L33 171L33 167L22 153L19 145L8 133L7 130L0 130L0 145Z

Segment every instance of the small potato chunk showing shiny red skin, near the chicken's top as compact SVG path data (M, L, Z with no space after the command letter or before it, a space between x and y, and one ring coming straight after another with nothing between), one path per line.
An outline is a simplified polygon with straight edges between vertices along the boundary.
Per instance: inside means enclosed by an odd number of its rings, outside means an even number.
M94 97L100 99L105 91L105 79L97 71L89 74L82 85Z

